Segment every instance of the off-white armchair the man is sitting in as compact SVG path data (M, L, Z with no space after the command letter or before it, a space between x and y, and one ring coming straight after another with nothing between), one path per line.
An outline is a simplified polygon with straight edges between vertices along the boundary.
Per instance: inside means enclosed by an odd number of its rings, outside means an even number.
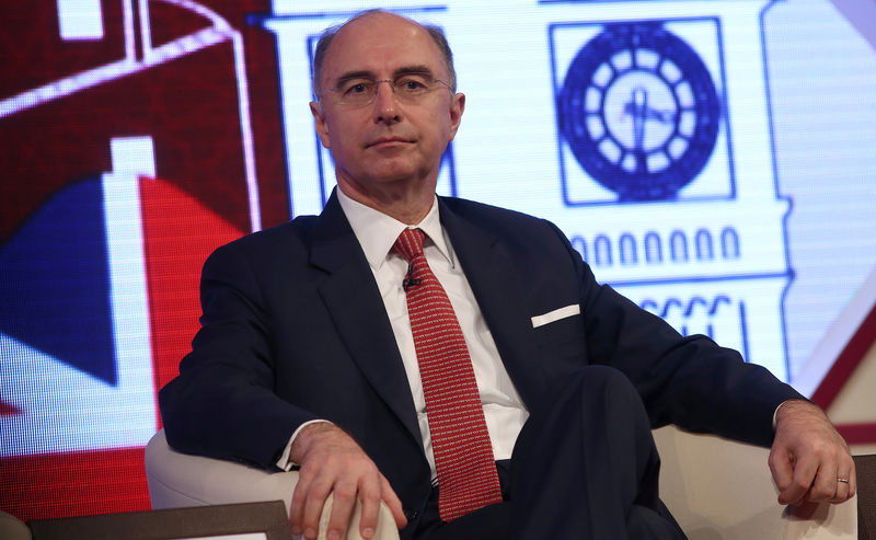
M766 466L769 450L673 427L654 432L662 459L660 497L690 540L856 540L857 501L809 508L808 517L787 512ZM280 499L289 509L296 472L267 473L240 463L174 451L164 432L146 448L152 507ZM331 507L328 507L331 508ZM327 510L323 512L324 538ZM360 540L359 514L347 540ZM397 540L389 508L381 508L376 540Z

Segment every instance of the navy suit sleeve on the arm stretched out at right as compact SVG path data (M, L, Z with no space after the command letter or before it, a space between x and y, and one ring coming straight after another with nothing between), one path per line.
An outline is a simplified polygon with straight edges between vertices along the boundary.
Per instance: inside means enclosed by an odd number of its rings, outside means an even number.
M642 395L654 427L676 424L769 446L772 418L785 400L802 398L765 368L704 335L681 336L608 285L557 230L580 283L589 363L623 371Z

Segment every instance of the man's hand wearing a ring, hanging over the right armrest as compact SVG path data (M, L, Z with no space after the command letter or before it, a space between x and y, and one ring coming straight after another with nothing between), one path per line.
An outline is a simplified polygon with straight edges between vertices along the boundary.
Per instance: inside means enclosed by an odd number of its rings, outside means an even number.
M842 503L855 494L855 463L849 446L825 413L805 400L779 406L770 470L781 504Z

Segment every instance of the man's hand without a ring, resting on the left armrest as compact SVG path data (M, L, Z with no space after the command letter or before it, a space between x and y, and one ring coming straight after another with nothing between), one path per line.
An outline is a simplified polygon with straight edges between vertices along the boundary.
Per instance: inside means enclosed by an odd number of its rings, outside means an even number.
M343 429L328 423L311 424L292 443L289 458L301 464L292 494L289 520L292 533L316 538L325 498L334 493L328 519L328 540L341 540L349 522L356 497L362 502L359 533L374 535L380 501L384 501L401 529L407 525L402 502L373 461Z

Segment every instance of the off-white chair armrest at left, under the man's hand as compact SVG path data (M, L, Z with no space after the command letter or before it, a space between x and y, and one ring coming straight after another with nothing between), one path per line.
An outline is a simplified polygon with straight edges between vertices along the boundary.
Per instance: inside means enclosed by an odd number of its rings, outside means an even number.
M146 446L145 464L153 509L283 501L288 514L298 483L298 472L268 472L233 461L177 452L168 445L164 429L153 435ZM330 495L320 517L319 540L325 539L332 504ZM360 518L361 504L357 501L345 540L361 540ZM380 505L372 538L399 539L392 513L384 503Z

